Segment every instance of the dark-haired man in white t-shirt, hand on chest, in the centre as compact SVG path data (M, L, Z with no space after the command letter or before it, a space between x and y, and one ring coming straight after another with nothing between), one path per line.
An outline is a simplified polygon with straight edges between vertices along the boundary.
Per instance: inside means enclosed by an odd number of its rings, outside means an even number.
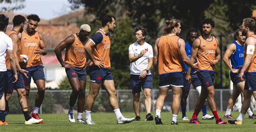
M151 112L151 89L153 85L152 75L150 69L153 64L153 48L150 44L145 42L146 29L138 26L134 30L136 42L129 46L129 60L130 60L130 84L133 94L133 109L136 114L136 121L140 120L139 116L139 98L142 88L145 96L146 120L152 121L153 116Z

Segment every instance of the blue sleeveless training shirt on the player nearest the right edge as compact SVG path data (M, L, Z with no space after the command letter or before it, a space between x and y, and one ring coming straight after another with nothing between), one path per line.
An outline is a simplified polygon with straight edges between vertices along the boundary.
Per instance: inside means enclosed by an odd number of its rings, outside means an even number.
M239 69L238 66L244 65L244 44L239 45L236 41L233 41L233 44L235 44L236 48L230 57L231 65L233 69Z

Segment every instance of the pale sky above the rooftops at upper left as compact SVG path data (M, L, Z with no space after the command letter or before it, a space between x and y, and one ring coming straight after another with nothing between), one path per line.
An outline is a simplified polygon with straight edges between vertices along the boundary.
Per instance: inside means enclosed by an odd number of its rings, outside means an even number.
M72 12L68 0L25 0L25 8L14 11L15 13L35 13L40 18L52 19Z

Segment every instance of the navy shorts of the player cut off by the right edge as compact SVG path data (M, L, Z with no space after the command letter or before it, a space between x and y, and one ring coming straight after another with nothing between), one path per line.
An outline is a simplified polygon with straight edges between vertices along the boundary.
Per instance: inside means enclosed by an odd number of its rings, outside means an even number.
M256 73L245 73L245 89L250 92L256 91Z

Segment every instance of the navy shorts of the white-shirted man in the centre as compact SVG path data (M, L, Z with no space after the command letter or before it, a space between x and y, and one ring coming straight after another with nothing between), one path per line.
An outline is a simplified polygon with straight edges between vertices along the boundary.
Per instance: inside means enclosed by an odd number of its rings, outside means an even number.
M142 92L142 88L150 88L153 86L153 78L152 75L146 75L145 78L139 78L139 75L132 75L130 78L130 84L132 87L132 94Z

